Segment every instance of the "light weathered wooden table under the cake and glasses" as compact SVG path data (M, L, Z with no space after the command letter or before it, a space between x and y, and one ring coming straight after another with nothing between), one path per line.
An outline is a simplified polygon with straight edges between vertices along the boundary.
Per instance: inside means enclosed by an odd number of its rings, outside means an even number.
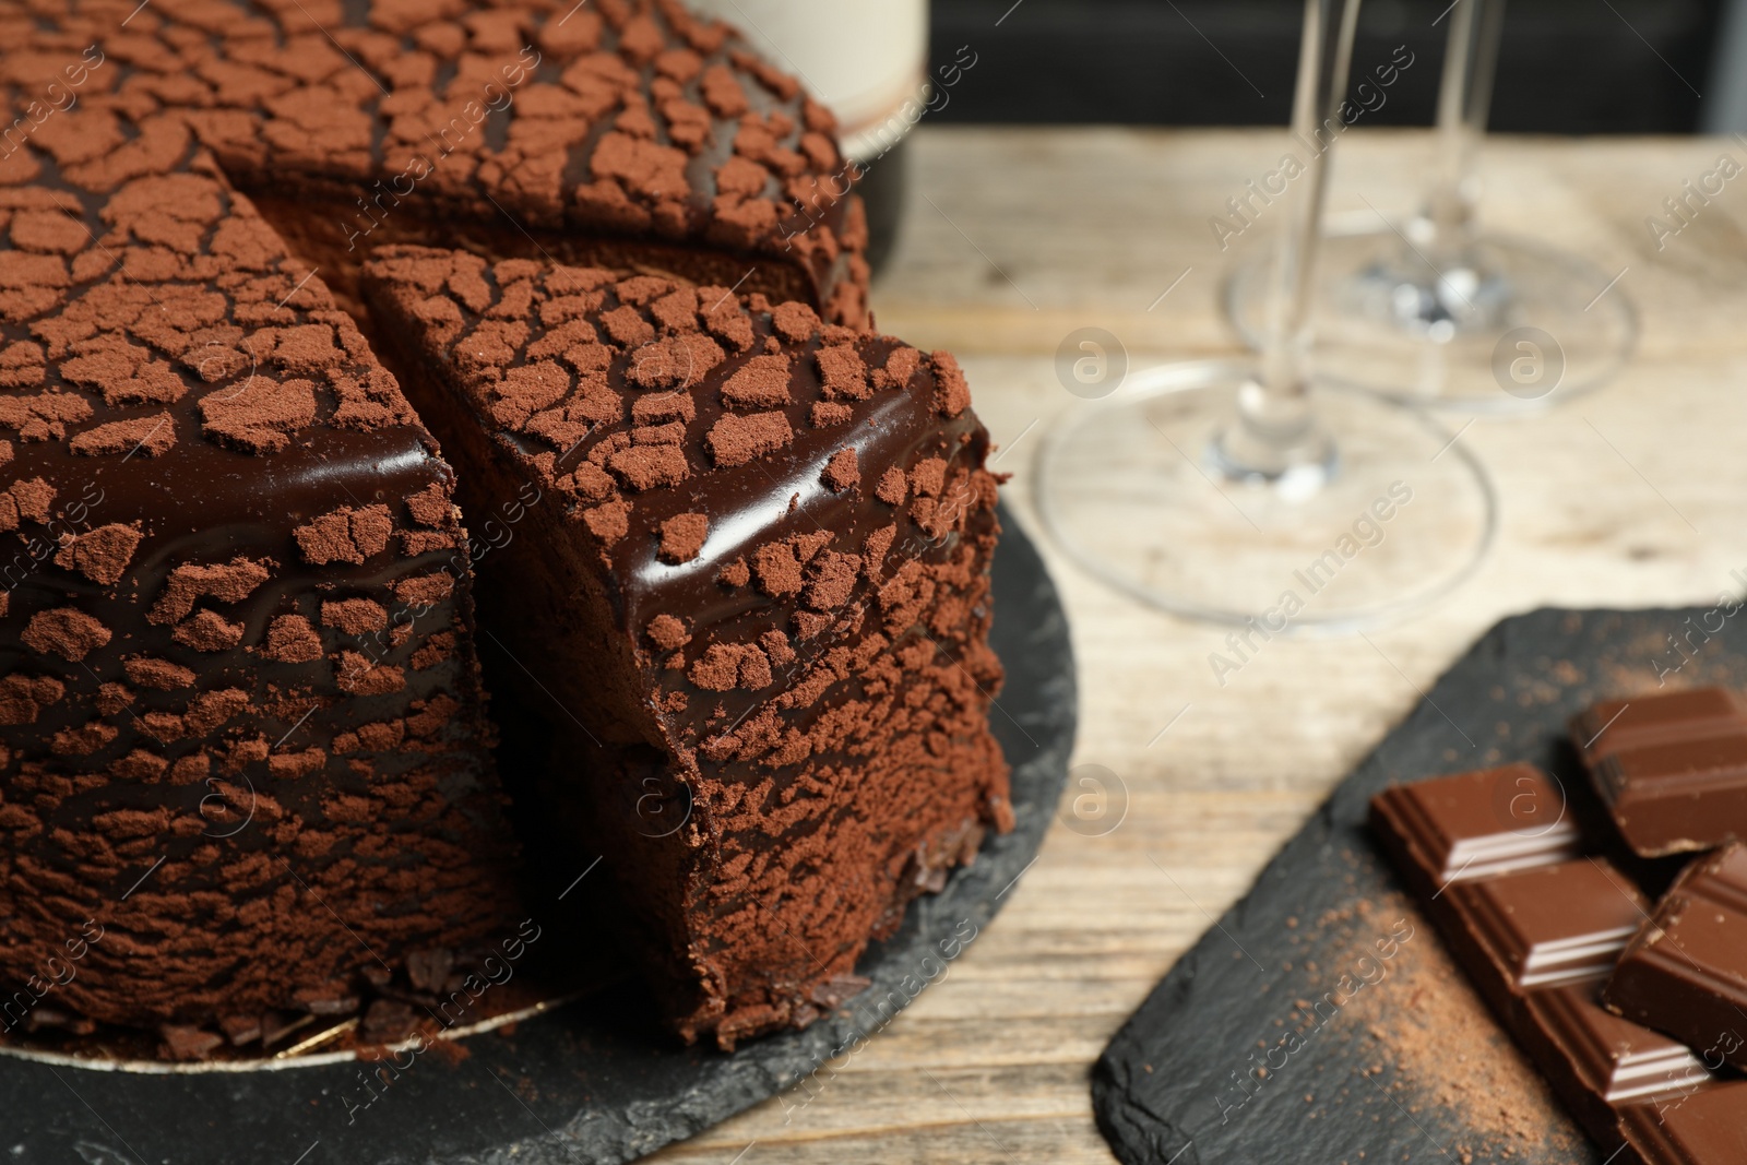
M1462 435L1502 512L1490 559L1455 596L1370 639L1277 641L1221 688L1207 655L1223 632L1066 562L1029 498L1039 435L1087 407L1057 383L1055 346L1097 325L1137 365L1235 353L1218 292L1239 246L1221 253L1207 218L1279 143L1268 131L919 133L879 323L956 351L1008 447L1006 498L1073 624L1074 763L1120 776L1127 819L1095 838L1057 823L994 926L823 1092L652 1160L1109 1162L1087 1081L1111 1032L1476 636L1543 604L1709 603L1747 585L1747 175L1661 252L1644 222L1719 154L1747 162L1740 141L1695 138L1487 143L1485 224L1626 269L1609 293L1637 302L1642 341L1607 389ZM1333 211L1415 208L1426 134L1356 129L1340 150Z

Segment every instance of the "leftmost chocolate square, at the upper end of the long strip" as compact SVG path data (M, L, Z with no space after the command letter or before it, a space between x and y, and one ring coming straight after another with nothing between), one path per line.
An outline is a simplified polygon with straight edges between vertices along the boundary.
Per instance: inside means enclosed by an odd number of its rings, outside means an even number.
M1565 791L1534 765L1398 784L1371 800L1371 828L1422 898L1581 852Z

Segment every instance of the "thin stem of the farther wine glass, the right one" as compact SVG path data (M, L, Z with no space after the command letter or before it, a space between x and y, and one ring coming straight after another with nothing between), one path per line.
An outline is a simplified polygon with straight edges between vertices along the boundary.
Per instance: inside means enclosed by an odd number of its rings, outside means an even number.
M1474 222L1474 148L1487 133L1504 0L1457 0L1438 87L1438 161L1422 220L1440 269L1464 260Z

